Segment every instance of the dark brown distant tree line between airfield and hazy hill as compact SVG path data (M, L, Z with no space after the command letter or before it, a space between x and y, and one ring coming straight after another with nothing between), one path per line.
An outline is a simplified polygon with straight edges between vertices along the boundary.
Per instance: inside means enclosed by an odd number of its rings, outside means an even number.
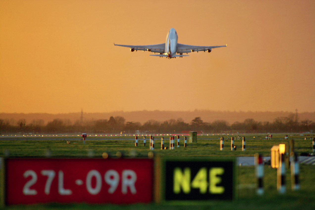
M111 116L107 119L83 121L77 120L72 123L70 120L54 119L44 123L43 120L33 120L26 123L25 119L12 122L9 119L0 119L0 134L6 133L187 133L188 131L203 133L282 133L282 132L313 132L315 122L310 120L298 121L295 114L287 117L278 117L273 122L257 122L254 119L245 119L243 122L229 124L223 120L203 122L201 117L194 118L190 123L184 122L181 118L170 119L164 122L148 120L140 122L128 121L122 116Z

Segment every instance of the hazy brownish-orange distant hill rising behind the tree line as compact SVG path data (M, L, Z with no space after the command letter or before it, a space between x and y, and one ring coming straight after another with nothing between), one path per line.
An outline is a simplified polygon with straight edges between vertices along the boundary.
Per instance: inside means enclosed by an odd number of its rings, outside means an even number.
M210 110L195 110L195 111L113 111L102 113L83 113L85 121L97 119L109 119L110 116L123 116L126 122L141 122L144 123L150 119L157 121L165 121L169 119L182 118L185 122L191 122L195 117L201 117L204 122L213 122L215 120L225 120L230 124L236 121L243 122L247 118L253 118L256 121L274 121L277 117L286 117L293 112L288 111L210 111ZM0 113L0 119L9 119L11 123L19 119L26 119L26 123L32 120L43 119L45 124L55 118L68 119L72 122L80 120L81 112L65 113L65 114L49 114L49 113ZM312 120L315 122L314 112L298 113L299 121Z

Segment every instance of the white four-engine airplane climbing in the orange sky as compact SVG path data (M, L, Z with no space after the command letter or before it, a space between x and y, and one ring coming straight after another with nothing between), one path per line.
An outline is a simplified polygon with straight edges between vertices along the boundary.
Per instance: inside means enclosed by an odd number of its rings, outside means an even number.
M190 53L190 52L199 52L199 51L208 51L210 53L213 48L221 48L226 47L226 45L222 46L194 46L194 45L186 45L177 43L178 36L177 32L174 28L171 28L166 35L166 42L163 44L154 44L154 45L122 45L122 44L115 44L115 46L127 47L130 48L131 52L142 50L153 52L154 54L151 56L159 56L159 57L166 57L168 59L189 55L183 55L183 53ZM155 55L155 53L159 53ZM178 53L178 54L176 54Z

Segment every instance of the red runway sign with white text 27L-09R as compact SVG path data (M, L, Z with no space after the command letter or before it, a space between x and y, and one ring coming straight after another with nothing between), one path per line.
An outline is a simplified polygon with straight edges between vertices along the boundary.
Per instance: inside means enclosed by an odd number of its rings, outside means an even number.
M6 159L6 203L149 203L152 159Z

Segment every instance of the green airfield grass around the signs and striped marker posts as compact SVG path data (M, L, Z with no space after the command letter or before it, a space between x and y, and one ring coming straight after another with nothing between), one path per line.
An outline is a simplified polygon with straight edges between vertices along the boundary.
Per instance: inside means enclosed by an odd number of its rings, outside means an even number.
M255 138L254 138L255 136ZM230 151L230 141L225 141L225 150L219 150L218 135L198 136L198 143L188 143L188 147L183 147L183 140L180 141L180 148L175 150L160 150L160 138L155 137L154 152L161 156L176 157L200 157L200 156L253 156L255 153L261 153L264 156L270 156L272 145L286 143L284 134L273 135L273 139L265 140L264 134L250 134L246 137L246 151L241 151L241 140L235 140L236 151ZM227 136L224 136L225 139ZM26 137L25 137L26 138ZM89 137L86 144L79 137L36 137L32 139L23 138L0 138L0 156L9 157L101 157L103 152L109 152L115 155L121 151L126 156L132 155L145 157L148 155L149 139L147 138L146 147L143 146L142 137L139 139L139 146L135 147L133 136L123 137ZM312 151L312 142L307 136L299 134L289 135L289 139L295 139L295 151L300 153L310 153ZM19 139L19 140L13 140ZM71 144L67 144L70 140ZM165 146L169 146L169 136L164 136ZM175 139L176 142L176 139ZM175 143L176 144L176 143ZM175 146L176 147L176 146ZM48 152L49 151L49 152ZM265 166L265 196L255 195L255 174L254 167L238 167L238 198L234 201L211 201L205 206L195 206L198 209L314 209L315 206L315 166L301 165L301 190L294 192L290 189L290 171L287 170L287 193L278 195L276 190L276 170ZM1 174L3 176L3 174ZM0 186L2 189L3 186ZM2 190L1 190L2 191ZM0 197L3 197L0 194ZM32 206L9 206L4 209L191 209L191 206L167 206L157 204L136 204L129 206L117 205L89 205L89 204L47 204Z

